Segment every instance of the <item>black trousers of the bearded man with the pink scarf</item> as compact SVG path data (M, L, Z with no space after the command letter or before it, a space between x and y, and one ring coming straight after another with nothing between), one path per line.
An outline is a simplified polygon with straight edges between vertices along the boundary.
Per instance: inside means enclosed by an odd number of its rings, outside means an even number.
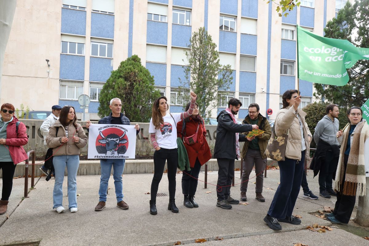
M234 177L234 159L217 158L218 162L218 182L217 197L218 201L230 197L232 179ZM222 187L221 186L226 186ZM219 191L221 189L221 191Z

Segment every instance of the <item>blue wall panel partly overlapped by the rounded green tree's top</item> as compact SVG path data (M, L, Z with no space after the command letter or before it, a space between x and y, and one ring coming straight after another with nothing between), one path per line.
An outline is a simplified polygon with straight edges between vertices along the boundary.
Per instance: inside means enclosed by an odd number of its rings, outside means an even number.
M106 82L113 71L113 59L90 57L90 80Z

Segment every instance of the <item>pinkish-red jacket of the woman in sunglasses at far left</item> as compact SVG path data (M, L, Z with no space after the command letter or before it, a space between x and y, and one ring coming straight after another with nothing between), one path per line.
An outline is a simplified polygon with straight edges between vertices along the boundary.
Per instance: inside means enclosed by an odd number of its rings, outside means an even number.
M18 136L15 127L15 122L19 121L13 115L13 121L9 122L6 128L6 145L8 145L10 150L10 156L14 164L23 162L27 160L27 153L23 149L23 145L28 143L28 137L26 133L25 125L20 122L18 125Z

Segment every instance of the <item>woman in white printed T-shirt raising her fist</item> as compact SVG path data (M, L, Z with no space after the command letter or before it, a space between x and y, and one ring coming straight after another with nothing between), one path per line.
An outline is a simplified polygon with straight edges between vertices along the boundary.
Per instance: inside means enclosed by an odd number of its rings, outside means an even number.
M177 213L175 204L176 173L178 164L177 154L177 123L192 115L197 95L191 91L191 104L189 110L182 113L167 114L169 105L166 97L159 97L152 105L152 118L150 119L149 133L154 152L154 177L151 183L150 214L157 214L156 193L163 176L165 161L168 167L169 204L168 210Z

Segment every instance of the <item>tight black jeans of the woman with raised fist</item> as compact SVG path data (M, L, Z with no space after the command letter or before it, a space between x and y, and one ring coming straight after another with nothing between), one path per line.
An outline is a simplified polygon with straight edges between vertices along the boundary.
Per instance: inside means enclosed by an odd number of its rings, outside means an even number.
M169 181L169 199L174 199L176 195L176 174L178 164L177 149L159 149L154 152L154 177L151 182L151 200L156 200L156 193L160 180L163 176L165 161L168 167L168 181Z

